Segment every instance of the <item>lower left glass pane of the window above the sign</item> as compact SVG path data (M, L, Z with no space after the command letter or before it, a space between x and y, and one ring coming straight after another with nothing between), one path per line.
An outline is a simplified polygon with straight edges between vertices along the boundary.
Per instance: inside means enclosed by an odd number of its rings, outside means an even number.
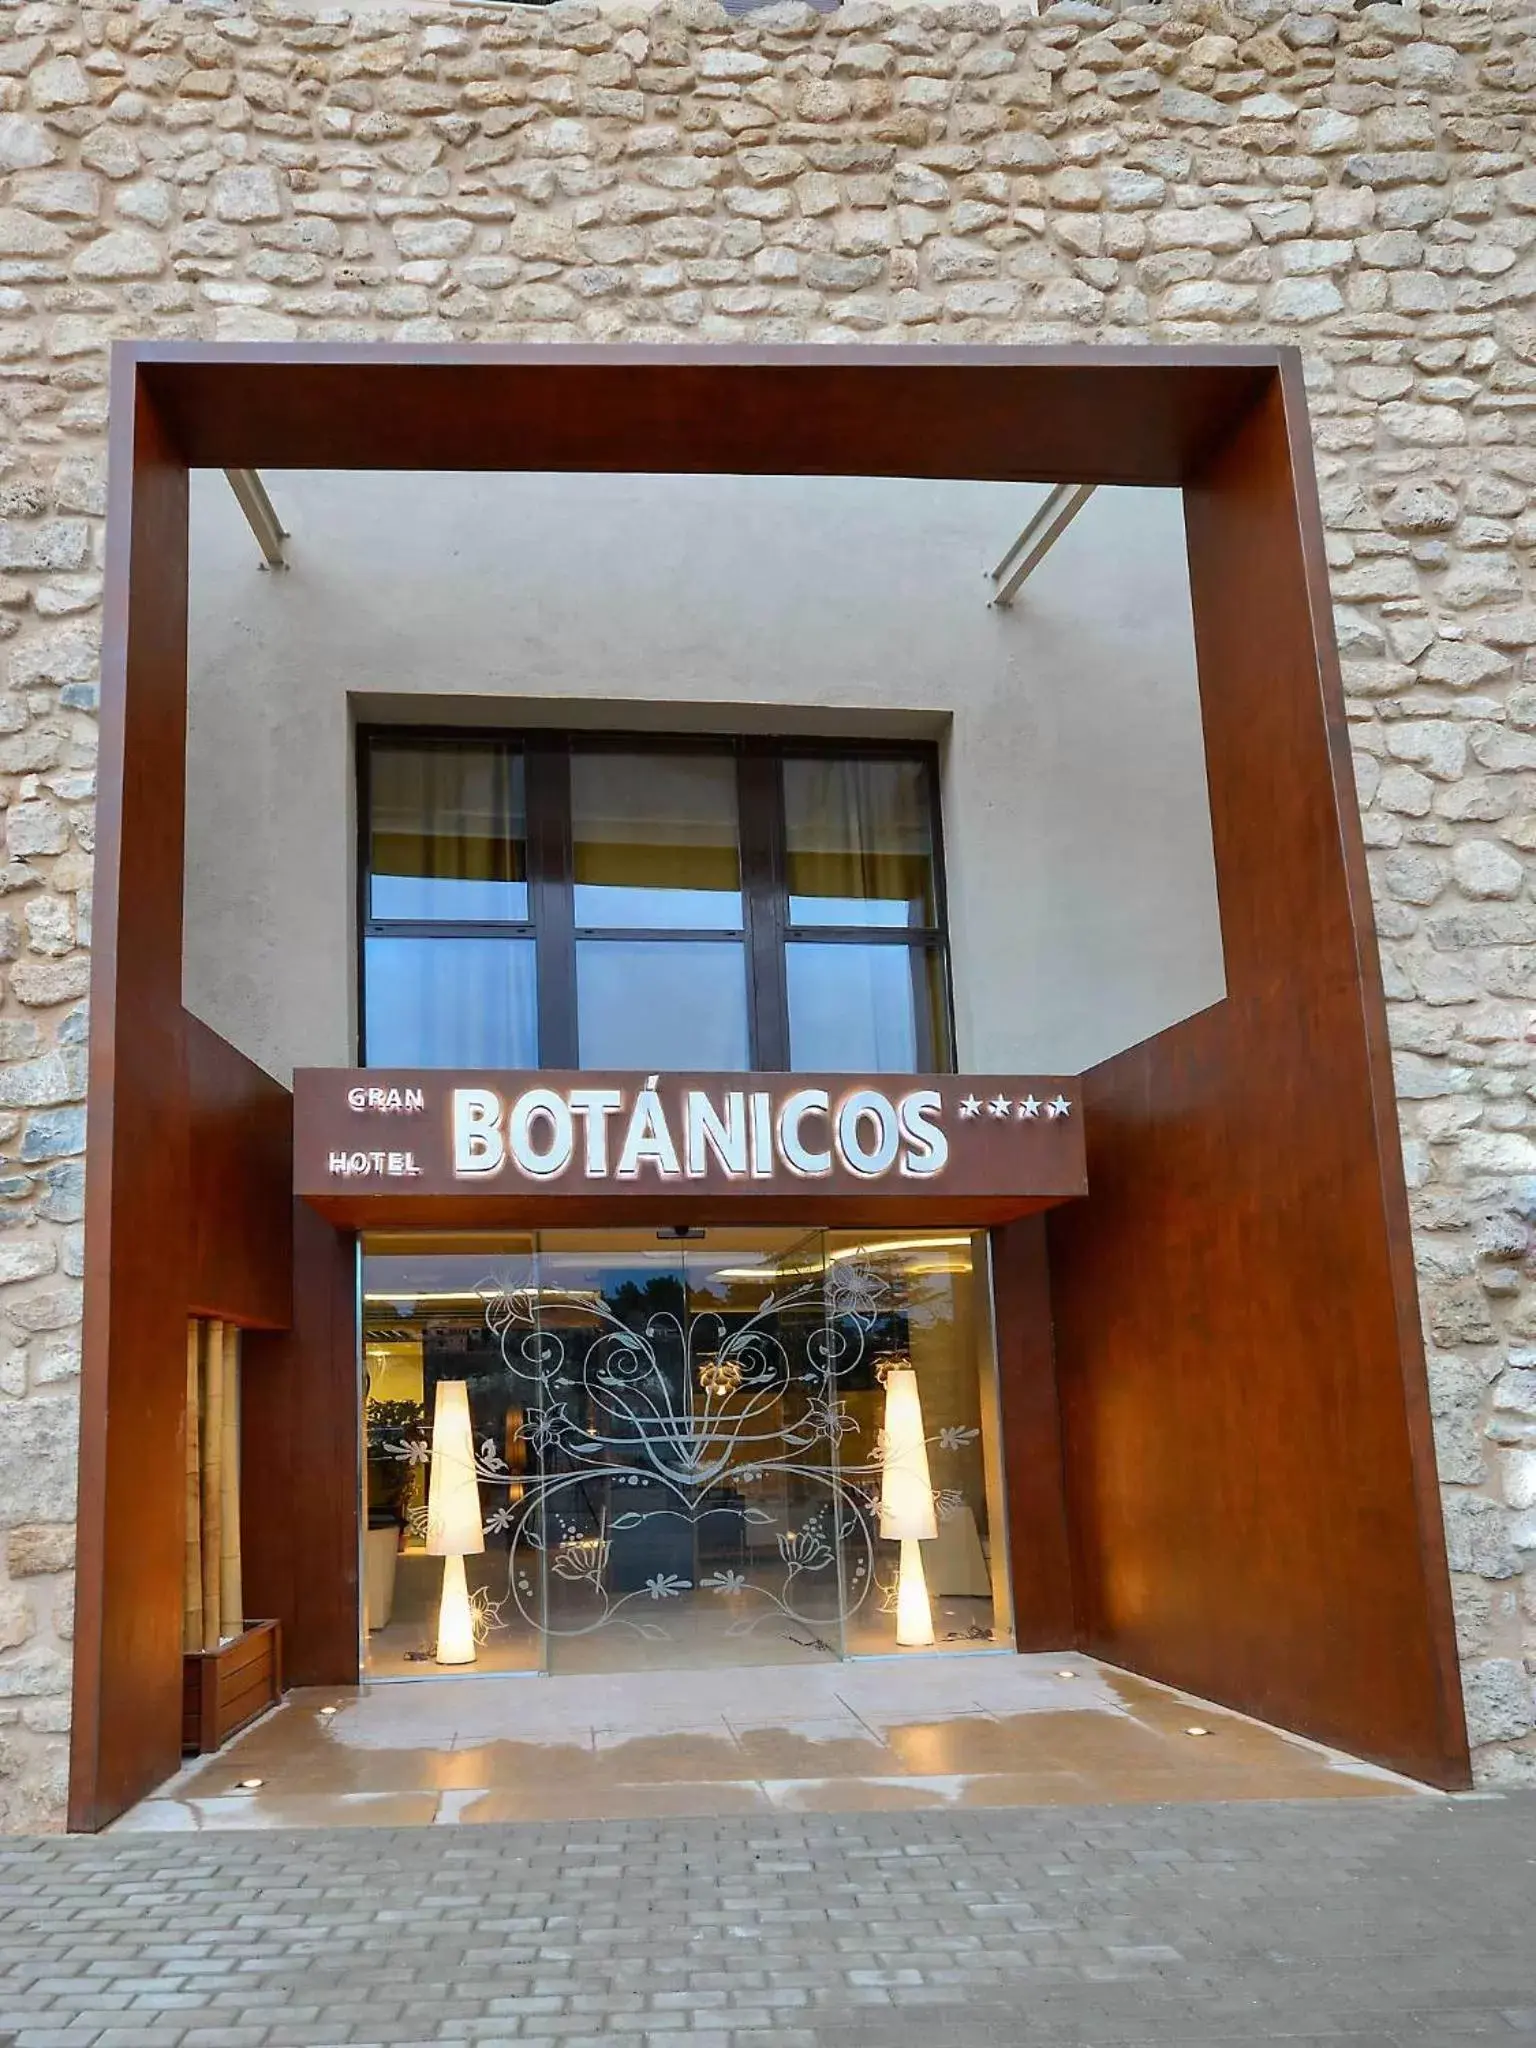
M530 938L369 938L371 1067L537 1067Z

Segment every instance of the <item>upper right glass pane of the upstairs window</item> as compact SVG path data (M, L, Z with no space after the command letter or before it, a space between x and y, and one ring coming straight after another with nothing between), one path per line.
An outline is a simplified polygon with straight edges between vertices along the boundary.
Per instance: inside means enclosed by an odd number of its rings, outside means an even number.
M938 918L924 764L786 760L784 858L791 924L932 928Z

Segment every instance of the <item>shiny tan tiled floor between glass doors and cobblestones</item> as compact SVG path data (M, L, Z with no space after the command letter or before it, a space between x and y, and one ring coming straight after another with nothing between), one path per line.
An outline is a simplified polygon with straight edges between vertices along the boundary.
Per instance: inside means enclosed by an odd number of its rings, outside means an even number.
M295 1692L117 1827L1417 1792L1405 1778L1085 1657L977 1655Z

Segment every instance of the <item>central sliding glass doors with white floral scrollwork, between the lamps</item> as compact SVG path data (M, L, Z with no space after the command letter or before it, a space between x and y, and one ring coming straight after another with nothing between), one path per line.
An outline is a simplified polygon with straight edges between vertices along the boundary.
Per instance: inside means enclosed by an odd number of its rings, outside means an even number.
M819 1233L547 1235L539 1327L551 1669L838 1657Z

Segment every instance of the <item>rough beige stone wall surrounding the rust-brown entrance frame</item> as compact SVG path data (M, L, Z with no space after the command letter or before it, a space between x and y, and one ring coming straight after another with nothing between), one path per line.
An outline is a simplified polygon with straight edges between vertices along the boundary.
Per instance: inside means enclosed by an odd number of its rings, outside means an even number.
M0 4L0 1825L57 1825L106 344L1298 342L1485 1782L1536 1782L1536 14Z

